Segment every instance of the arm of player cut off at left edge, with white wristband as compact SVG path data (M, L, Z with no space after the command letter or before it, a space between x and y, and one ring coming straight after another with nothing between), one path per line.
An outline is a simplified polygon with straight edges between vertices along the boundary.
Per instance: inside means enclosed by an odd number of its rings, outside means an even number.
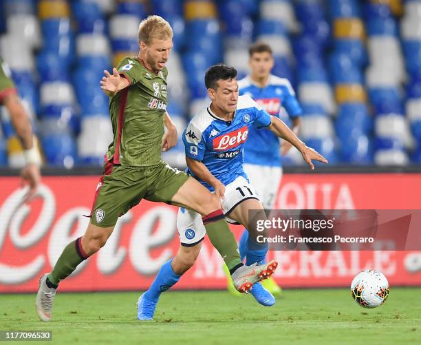
M41 155L36 146L36 138L32 132L30 117L17 94L8 65L0 58L0 105L4 105L10 115L10 121L23 147L25 167L21 171L21 186L28 183L29 191L24 202L30 202L41 179L39 167Z

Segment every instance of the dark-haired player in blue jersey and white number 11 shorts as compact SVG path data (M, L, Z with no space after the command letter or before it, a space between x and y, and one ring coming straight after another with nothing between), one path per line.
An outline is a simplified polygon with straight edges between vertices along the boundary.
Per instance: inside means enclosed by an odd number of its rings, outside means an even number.
M307 147L285 123L270 116L252 98L239 96L236 76L237 71L233 67L210 67L206 72L205 84L212 102L188 123L183 141L188 173L221 198L222 210L228 220L246 226L250 209L263 210L243 170L243 147L250 127L270 129L288 140L301 152L312 169L312 160L323 163L327 163L327 160ZM166 274L164 266L160 269L149 290L140 298L140 320L152 319L160 293L173 286L193 266L199 255L206 234L199 213L180 208L177 228L181 246L171 261L173 274ZM253 242L253 245L253 251L247 257L251 264L264 260L268 251L267 244ZM268 275L274 268L271 265L272 262L267 264ZM275 302L273 295L259 283L250 292L264 306L271 306Z

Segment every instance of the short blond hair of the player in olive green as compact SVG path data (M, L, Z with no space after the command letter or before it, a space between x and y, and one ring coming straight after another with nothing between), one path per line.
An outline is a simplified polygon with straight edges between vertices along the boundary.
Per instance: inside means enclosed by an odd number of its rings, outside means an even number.
M139 24L138 42L149 45L152 39L173 38L173 29L169 22L160 16L149 16Z

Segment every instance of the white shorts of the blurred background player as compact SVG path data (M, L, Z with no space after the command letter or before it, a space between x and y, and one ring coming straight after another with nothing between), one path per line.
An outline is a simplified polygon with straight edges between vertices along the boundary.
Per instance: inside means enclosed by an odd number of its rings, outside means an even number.
M282 179L281 167L269 167L267 165L244 164L243 169L264 209L273 209L279 185Z

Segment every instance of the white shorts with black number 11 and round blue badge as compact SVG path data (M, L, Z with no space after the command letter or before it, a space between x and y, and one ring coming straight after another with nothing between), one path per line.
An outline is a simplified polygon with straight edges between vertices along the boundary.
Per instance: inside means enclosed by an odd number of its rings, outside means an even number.
M237 177L233 182L225 186L225 198L222 199L222 211L228 216L237 205L247 199L257 199L255 189L243 176ZM236 223L226 217L227 222ZM180 242L185 247L193 247L204 239L206 229L202 222L202 216L189 209L180 207L177 215L177 229Z

